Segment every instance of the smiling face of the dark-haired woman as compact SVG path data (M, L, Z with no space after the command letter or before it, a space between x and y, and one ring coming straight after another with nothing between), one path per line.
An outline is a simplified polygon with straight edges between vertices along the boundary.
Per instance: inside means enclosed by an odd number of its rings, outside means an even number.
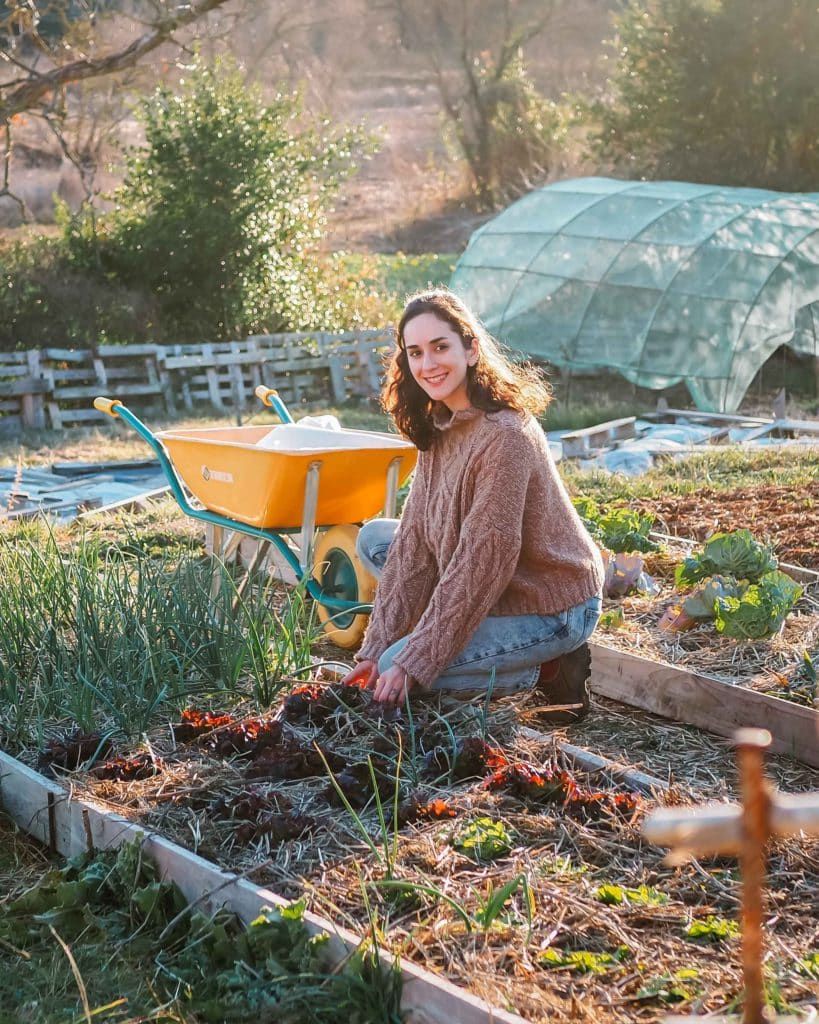
M445 319L420 313L404 325L403 344L413 377L433 401L442 401L454 413L469 409L467 368L478 359L476 338L465 348Z

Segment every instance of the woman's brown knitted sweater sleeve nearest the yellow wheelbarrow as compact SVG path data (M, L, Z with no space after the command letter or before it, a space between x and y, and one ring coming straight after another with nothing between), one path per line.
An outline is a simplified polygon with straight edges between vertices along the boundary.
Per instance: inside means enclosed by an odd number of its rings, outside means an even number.
M438 578L424 536L426 480L423 454L387 553L373 612L357 662L378 660L390 644L406 636L421 616Z

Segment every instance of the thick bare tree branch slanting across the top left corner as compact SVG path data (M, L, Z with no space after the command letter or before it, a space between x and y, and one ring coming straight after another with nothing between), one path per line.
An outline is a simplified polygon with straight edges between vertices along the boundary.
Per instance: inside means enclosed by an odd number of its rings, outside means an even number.
M95 59L73 60L71 63L54 68L37 75L15 88L0 90L0 123L8 122L15 114L36 106L44 96L74 82L81 82L101 75L111 75L126 68L132 68L145 53L167 42L174 32L203 17L211 10L223 6L227 0L199 0L181 3L173 13L157 20L147 32L135 39L129 46L115 53Z

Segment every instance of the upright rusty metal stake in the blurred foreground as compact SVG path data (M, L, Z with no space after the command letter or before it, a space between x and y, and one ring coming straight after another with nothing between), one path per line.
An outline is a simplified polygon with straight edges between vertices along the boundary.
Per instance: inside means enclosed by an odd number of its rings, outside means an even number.
M763 983L763 915L766 845L771 836L771 798L764 773L765 751L771 745L767 729L736 733L742 792L742 974L745 996L742 1024L770 1024Z

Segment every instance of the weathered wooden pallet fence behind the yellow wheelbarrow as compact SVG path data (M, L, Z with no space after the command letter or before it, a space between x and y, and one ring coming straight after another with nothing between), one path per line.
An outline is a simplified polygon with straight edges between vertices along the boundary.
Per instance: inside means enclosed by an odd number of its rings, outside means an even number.
M289 404L376 394L389 331L257 335L189 345L100 345L0 353L0 432L101 418L98 394L160 415L210 406L241 414L259 384Z

